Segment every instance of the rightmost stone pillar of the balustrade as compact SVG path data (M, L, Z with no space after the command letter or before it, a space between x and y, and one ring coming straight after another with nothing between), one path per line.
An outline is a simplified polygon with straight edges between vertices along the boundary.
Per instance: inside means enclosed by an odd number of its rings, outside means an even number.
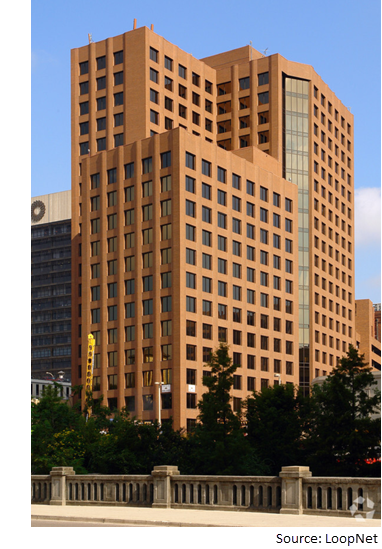
M309 467L300 467L298 465L282 467L279 476L282 479L280 514L302 515L302 479L312 476Z

